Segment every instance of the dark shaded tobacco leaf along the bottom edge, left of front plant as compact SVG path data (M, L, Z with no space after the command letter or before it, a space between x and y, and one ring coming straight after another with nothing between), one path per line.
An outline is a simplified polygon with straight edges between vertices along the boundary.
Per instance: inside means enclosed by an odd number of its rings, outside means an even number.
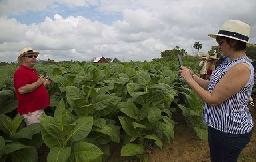
M12 162L38 162L36 149L32 147L16 151L12 154Z

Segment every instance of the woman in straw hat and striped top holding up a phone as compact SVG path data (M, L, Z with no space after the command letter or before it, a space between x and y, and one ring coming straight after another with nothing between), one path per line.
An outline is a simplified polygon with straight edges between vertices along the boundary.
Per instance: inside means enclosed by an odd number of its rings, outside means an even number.
M248 102L254 84L254 68L246 56L250 26L228 20L215 38L223 56L230 58L212 72L211 80L203 80L188 68L180 66L189 86L204 100L203 122L208 125L208 143L212 162L236 162L250 141L253 120Z

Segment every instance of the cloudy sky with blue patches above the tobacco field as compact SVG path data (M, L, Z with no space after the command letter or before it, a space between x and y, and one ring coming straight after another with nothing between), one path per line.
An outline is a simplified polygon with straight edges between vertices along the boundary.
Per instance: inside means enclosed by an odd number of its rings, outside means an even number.
M196 41L207 52L225 20L250 24L255 44L255 14L255 0L0 0L0 62L27 46L55 61L150 61Z

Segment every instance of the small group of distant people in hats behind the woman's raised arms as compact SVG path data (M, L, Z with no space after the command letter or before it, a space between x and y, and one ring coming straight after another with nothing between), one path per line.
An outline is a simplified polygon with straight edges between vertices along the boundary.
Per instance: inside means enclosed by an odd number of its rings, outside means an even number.
M220 66L225 61L228 61L229 58L226 56L221 56L218 58L216 55L212 55L207 59L206 54L202 55L202 60L199 63L200 68L200 78L210 80L212 72Z

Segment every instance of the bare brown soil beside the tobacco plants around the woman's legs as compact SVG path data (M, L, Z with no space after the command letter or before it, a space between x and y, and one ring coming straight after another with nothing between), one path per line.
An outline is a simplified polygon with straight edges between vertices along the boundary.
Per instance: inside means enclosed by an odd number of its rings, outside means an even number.
M249 107L256 128L256 106ZM175 138L172 142L164 142L162 150L156 146L146 154L148 162L210 162L208 140L196 138L192 129L188 128L182 112L173 114L172 119L178 124L174 128ZM120 156L121 146L111 146L111 156L107 162L138 162L135 157ZM238 162L256 162L256 131L253 132L249 144L242 150Z

